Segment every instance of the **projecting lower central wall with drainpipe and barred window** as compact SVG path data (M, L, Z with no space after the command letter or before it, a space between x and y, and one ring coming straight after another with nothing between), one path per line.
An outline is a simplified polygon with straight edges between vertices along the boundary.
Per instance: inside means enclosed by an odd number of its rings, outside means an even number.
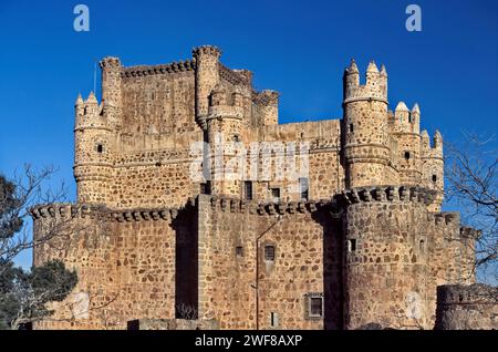
M199 197L199 314L221 329L338 329L340 229L324 209L274 207ZM264 259L266 246L274 248L274 261ZM325 294L324 319L307 319L311 292Z

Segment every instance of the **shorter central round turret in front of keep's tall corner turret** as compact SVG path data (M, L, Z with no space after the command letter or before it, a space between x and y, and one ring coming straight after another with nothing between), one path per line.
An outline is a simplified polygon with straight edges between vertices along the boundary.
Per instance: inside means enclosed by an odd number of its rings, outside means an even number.
M219 85L210 97L207 143L211 168L211 194L240 197L242 165L240 146L243 123L243 95L227 96Z

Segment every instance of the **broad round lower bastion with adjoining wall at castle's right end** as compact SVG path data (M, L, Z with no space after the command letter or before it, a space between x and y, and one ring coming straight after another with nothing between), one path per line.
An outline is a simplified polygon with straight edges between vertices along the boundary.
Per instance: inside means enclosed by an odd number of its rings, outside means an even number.
M436 288L474 280L473 236L415 187L344 193L345 328L432 329Z

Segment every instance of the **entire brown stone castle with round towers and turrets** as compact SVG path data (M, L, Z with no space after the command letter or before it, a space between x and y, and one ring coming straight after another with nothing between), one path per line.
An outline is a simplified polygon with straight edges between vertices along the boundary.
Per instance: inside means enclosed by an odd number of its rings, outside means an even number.
M32 209L35 236L64 234L34 263L80 278L37 328L433 329L437 287L474 282L475 231L440 213L443 138L421 133L418 105L390 110L384 66L363 79L351 62L342 118L289 124L215 46L101 69L102 102L75 105L77 201ZM289 145L286 169L307 164L294 178L276 167Z

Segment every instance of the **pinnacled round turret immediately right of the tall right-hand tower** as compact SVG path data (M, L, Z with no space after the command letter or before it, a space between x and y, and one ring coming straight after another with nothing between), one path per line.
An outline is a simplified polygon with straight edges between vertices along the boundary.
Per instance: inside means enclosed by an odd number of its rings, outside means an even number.
M419 185L421 169L421 110L415 104L412 111L400 102L394 112L394 134L398 143L400 183Z

